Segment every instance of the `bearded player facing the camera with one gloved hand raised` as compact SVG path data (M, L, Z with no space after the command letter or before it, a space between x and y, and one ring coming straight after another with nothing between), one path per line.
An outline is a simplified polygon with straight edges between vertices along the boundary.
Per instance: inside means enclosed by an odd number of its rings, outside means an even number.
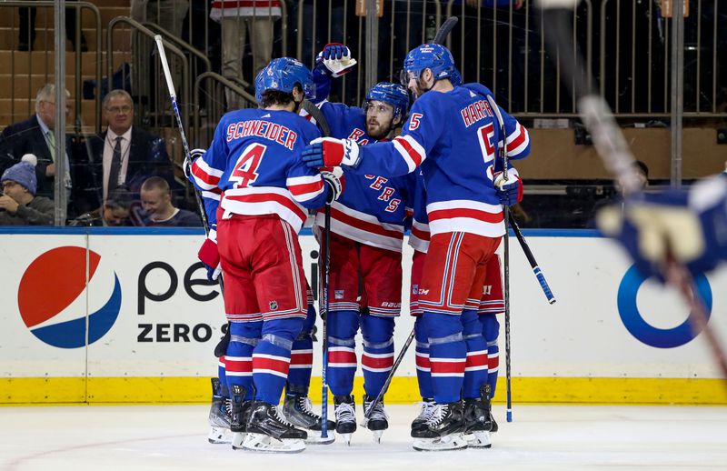
M337 61L348 60L344 45L327 45L319 61L329 74L316 74L317 91L329 89L329 76L340 70ZM324 98L317 94L317 98ZM357 145L393 138L403 123L409 95L402 85L382 82L366 94L364 108L322 101L318 104L334 137ZM356 354L354 336L364 337L365 426L380 441L388 428L383 401L373 406L393 366L394 317L402 303L402 245L409 178L380 175L348 175L345 191L331 205L331 272L328 316L328 385L334 394L336 433L346 441L356 430L352 396ZM315 219L324 228L324 215ZM372 409L373 410L370 410Z

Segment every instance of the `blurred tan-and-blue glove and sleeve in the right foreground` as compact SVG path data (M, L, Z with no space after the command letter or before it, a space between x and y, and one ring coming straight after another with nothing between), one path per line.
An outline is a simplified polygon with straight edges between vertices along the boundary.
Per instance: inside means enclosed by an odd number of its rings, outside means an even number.
M624 205L604 207L596 223L632 256L643 276L657 276L667 258L692 275L727 259L727 177L704 180L690 193L640 195Z

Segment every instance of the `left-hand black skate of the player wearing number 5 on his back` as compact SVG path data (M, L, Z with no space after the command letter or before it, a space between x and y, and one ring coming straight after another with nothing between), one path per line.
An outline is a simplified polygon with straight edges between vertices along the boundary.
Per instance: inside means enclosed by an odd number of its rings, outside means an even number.
M461 450L467 447L463 432L462 403L437 404L426 426L412 430L413 448L417 451Z

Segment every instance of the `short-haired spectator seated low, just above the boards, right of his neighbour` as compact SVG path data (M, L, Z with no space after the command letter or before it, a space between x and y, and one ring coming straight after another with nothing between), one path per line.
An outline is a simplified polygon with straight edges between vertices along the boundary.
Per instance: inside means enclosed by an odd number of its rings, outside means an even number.
M201 226L198 215L172 205L172 194L164 178L152 176L142 184L142 207L144 225L166 225L176 227Z

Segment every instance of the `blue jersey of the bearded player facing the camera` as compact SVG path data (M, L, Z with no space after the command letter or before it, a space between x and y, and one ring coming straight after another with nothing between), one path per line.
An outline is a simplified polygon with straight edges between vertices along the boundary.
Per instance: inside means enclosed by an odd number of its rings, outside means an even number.
M332 137L354 139L359 145L377 142L366 134L364 109L339 103L319 105ZM368 246L402 251L409 179L346 174L343 195L331 205L331 231ZM315 225L324 226L319 212Z

